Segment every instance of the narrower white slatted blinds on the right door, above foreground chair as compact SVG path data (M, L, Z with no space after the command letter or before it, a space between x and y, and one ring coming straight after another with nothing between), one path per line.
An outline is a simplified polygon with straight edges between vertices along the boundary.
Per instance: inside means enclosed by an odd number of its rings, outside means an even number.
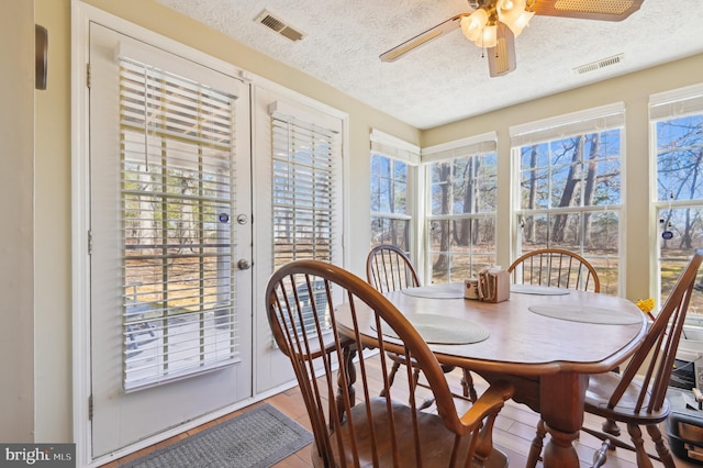
M342 235L339 129L280 103L269 111L274 268L302 258L333 261Z

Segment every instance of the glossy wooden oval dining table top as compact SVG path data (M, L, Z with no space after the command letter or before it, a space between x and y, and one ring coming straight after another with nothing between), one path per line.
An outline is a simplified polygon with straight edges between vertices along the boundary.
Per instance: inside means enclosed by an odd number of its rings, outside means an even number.
M459 290L462 288L461 283L455 285ZM475 343L440 344L434 339L429 344L442 364L479 374L481 370L521 376L605 372L634 353L647 330L645 314L633 302L612 296L574 290L551 294L537 290L512 292L507 301L489 303L450 297L450 289L451 285L438 285L384 296L411 317L429 314L436 316L437 324L444 317L462 319L488 330L489 337ZM344 325L343 319L341 324ZM365 326L373 335L370 325L361 322L362 330Z

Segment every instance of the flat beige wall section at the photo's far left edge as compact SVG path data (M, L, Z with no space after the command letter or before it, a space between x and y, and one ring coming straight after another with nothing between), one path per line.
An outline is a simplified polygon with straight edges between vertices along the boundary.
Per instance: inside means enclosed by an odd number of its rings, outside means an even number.
M0 441L34 439L34 4L0 0Z

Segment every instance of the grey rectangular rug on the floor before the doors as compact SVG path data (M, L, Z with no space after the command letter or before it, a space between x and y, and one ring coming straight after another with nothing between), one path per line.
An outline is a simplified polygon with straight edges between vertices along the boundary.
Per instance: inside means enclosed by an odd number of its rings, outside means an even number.
M268 468L312 439L308 430L267 403L120 466Z

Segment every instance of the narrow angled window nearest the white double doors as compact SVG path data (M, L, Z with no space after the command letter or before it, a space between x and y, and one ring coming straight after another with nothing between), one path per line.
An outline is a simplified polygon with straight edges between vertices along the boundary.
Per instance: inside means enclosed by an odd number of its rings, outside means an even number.
M391 244L411 253L415 172L420 148L371 132L371 247Z

